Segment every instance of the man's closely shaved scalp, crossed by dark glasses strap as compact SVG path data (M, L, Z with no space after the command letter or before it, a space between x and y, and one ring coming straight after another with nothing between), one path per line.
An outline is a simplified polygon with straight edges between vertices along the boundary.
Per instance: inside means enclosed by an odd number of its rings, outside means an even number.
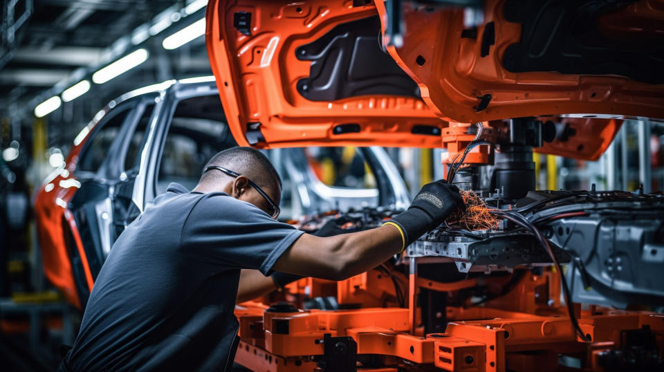
M203 170L214 165L246 176L261 188L275 189L277 193L282 189L282 179L268 157L252 147L232 147L219 151ZM214 185L224 177L228 176L221 171L207 171L201 176L199 185Z

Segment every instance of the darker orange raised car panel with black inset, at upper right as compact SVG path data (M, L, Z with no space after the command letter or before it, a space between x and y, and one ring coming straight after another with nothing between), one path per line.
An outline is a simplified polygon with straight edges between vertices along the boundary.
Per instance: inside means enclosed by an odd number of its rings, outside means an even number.
M376 8L387 52L443 120L569 114L664 120L662 1L600 7L595 13L587 3L486 0L483 21L475 28L464 24L459 7L422 10L403 1L404 32L396 43L403 45L390 45L385 35L386 3L376 1ZM584 27L577 30L579 22ZM520 66L524 61L532 71Z

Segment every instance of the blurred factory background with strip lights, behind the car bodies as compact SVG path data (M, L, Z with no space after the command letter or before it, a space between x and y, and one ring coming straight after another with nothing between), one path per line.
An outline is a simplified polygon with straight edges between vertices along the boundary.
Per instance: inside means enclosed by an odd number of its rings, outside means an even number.
M72 141L123 93L212 75L206 0L3 0L0 12L0 368L48 371L80 316L44 279L32 205ZM374 187L352 149L318 149L327 185ZM441 150L387 149L414 195ZM540 189L664 185L664 126L629 120L596 162L535 155ZM187 167L187 165L184 165ZM5 369L8 366L9 369Z

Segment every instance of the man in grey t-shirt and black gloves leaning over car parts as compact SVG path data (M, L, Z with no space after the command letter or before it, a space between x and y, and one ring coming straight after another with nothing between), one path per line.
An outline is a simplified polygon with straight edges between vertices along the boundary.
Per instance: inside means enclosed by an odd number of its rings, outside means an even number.
M191 192L169 185L113 244L59 370L228 370L236 301L301 276L370 270L463 205L457 187L436 181L382 227L319 237L276 221L281 187L250 147L216 154Z

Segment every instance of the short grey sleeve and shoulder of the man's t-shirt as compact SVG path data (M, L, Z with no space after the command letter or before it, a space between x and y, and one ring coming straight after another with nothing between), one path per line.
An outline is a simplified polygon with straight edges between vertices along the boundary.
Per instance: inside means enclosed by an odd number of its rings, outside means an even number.
M208 269L249 268L267 276L302 234L250 203L217 194L196 203L183 226L180 249Z

